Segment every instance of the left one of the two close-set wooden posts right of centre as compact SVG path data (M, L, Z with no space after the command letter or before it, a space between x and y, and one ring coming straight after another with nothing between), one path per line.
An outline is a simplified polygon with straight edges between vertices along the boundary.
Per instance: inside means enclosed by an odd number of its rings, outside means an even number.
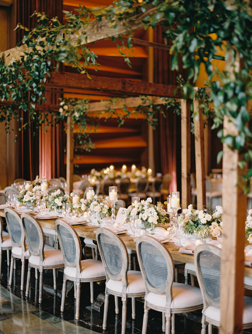
M192 100L181 99L181 207L191 204L191 112Z

